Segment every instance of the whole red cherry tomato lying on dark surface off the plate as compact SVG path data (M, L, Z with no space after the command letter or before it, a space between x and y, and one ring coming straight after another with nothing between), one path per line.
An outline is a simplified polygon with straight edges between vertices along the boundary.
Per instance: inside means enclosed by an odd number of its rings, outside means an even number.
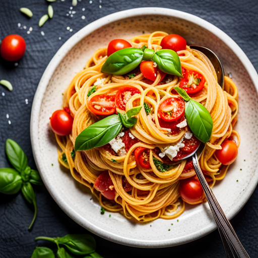
M9 35L5 37L1 44L1 56L7 61L17 61L24 55L26 43L19 35Z

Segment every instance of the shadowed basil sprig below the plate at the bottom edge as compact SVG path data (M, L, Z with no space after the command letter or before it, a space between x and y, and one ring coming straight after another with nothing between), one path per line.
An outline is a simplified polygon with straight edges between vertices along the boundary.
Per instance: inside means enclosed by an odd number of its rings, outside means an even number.
M74 258L75 255L86 255L84 257L89 258L103 258L98 254L96 249L96 242L93 236L88 234L68 234L63 237L46 237L39 236L35 240L46 240L53 242L57 245L57 257L58 258ZM61 247L60 247L61 245ZM62 247L63 246L63 247ZM35 255L37 256L33 256ZM49 256L44 256L49 255ZM52 255L52 256L51 256ZM32 254L32 258L52 258L54 257L53 251L47 247L36 247ZM80 256L81 257L81 256Z

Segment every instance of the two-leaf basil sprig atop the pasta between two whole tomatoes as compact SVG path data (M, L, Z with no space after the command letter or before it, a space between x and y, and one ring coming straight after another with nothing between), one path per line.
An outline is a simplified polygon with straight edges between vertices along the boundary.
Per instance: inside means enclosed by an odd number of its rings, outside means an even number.
M104 62L101 72L113 75L124 75L136 69L141 61L154 61L158 68L167 74L182 76L178 54L170 49L124 48L112 53Z

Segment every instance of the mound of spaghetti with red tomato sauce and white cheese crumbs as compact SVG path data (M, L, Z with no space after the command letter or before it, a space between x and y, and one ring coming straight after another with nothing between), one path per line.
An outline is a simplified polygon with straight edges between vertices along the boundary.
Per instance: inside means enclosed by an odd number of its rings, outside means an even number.
M166 35L165 32L156 31L150 35L134 37L130 43L135 48L147 46L157 51L161 49L161 40ZM89 187L101 206L110 212L120 212L126 218L140 222L176 218L185 207L180 197L180 181L195 176L191 161L180 161L178 155L183 148L192 150L199 143L190 132L184 115L170 121L173 118L171 114L179 112L178 106L171 108L173 103L164 104L165 100L171 98L173 101L180 99L174 88L183 79L158 70L155 81L150 81L139 68L126 75L102 73L101 68L107 59L106 52L107 48L98 49L64 93L63 107L70 108L74 122L70 135L56 135L58 160L70 169L77 181ZM225 77L222 90L212 63L203 53L186 46L177 54L182 72L188 73L189 80L193 80L193 88L196 89L201 81L205 82L201 90L190 96L206 107L213 120L210 141L199 159L202 171L212 187L217 180L224 178L228 169L228 165L222 165L217 159L216 150L222 149L221 144L225 139L233 139L237 147L240 143L238 133L233 130L238 111L237 88L230 78ZM112 140L113 145L106 144L75 153L78 135L103 118L90 111L91 105L101 108L97 97L109 96L109 99L100 97L105 102L102 105L109 107L115 96L117 98L120 94L119 90L125 88L127 91L121 91L124 108L115 100L116 112L125 113L136 106L142 106L136 124L131 128L123 127ZM120 147L115 147L118 143ZM137 160L138 154L144 159L142 163ZM64 156L66 159L63 159ZM111 178L112 187L109 188L114 192L114 200L108 200L94 187L98 176L104 171L108 171ZM193 204L202 202L205 202L204 195Z

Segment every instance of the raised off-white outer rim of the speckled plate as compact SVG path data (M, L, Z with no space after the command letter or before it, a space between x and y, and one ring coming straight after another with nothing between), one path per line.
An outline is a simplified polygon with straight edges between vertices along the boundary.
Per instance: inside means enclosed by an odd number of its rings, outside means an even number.
M117 13L113 13L111 15L105 16L99 20L96 20L95 22L90 23L89 25L82 28L80 31L78 31L76 34L74 34L70 39L68 39L56 52L50 63L48 64L40 82L37 88L37 91L34 96L33 105L32 105L32 112L31 112L31 126L30 126L30 132L31 132L31 144L32 144L32 150L33 150L33 156L36 162L36 165L38 167L38 170L41 171L41 167L38 163L38 159L40 158L40 150L39 150L39 140L38 140L38 123L39 123L39 114L41 109L42 100L44 97L44 93L46 91L47 85L57 68L59 62L63 59L64 56L68 54L68 52L84 37L92 33L93 31L101 28L102 26L105 26L107 24L110 24L112 22L122 20L125 18L131 18L135 16L144 16L144 15L162 15L162 16L170 16L175 18L180 18L186 21L189 21L193 24L197 24L200 27L203 27L210 32L212 32L214 35L216 35L218 38L220 38L228 47L232 49L232 51L237 55L237 57L242 61L243 66L245 67L246 71L248 72L256 91L258 91L258 75L252 66L251 62L249 61L248 57L245 55L245 53L241 50L241 48L231 39L226 33L224 33L222 30L217 28L216 26L212 25L211 23L203 20L202 18L199 18L197 16L173 10L173 9L166 9L166 8L137 8L137 9L130 9L125 10ZM256 169L258 170L258 169ZM256 171L257 172L257 171ZM44 174L41 173L42 179L44 182L46 182L44 178ZM250 198L252 192L254 191L256 184L258 181L258 173L255 173L255 178L251 181L251 184L248 185L248 188L246 189L244 193L244 198L242 198L242 202L239 203L237 207L234 207L230 210L228 213L228 218L232 219L244 206L244 204L247 202L247 200ZM57 194L54 188L51 188L49 185L45 183L45 186L47 190L49 191L52 198L55 200L55 202L59 205L59 207L74 221L76 221L78 224L83 226L84 228L88 229L89 231L93 232L94 234L97 234L105 239L108 239L110 241L129 245L129 246L135 246L135 247L148 247L148 248L158 248L158 247L168 247L168 246L175 246L183 243L187 243L193 240L196 240L198 238L201 238L204 235L209 234L210 232L214 231L216 229L216 224L211 223L209 226L202 228L198 232L189 234L187 236L183 236L180 238L175 239L167 239L167 240L139 240L139 239L132 239L127 237L121 237L119 235L113 234L111 232L108 232L106 230L103 230L99 228L97 225L92 224L89 221L86 221L85 218L83 218L80 214L73 211L69 205L63 201Z

